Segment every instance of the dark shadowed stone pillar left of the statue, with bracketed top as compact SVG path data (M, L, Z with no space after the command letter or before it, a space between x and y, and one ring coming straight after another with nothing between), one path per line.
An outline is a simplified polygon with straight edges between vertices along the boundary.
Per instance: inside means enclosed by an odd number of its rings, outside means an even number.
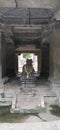
M11 32L5 33L6 40L6 74L7 76L14 76L15 74L15 47Z

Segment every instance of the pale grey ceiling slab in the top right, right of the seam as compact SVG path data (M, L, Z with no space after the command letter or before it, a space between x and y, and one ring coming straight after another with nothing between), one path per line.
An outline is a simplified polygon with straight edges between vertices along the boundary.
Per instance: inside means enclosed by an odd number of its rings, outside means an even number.
M31 8L49 8L49 7L58 7L59 0L17 0L18 7L31 7Z

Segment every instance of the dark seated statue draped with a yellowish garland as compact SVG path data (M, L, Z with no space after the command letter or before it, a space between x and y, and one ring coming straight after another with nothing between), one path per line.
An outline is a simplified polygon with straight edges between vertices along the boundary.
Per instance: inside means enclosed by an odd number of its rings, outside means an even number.
M32 59L27 59L26 64L22 68L22 75L21 75L21 81L22 82L34 82L35 76L34 76L35 70L32 65Z

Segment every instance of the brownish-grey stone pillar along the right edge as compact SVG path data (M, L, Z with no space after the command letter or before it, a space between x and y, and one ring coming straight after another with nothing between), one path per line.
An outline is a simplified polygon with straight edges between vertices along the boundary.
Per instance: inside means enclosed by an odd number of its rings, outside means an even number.
M52 88L60 86L60 23L55 23L50 35L50 81Z

